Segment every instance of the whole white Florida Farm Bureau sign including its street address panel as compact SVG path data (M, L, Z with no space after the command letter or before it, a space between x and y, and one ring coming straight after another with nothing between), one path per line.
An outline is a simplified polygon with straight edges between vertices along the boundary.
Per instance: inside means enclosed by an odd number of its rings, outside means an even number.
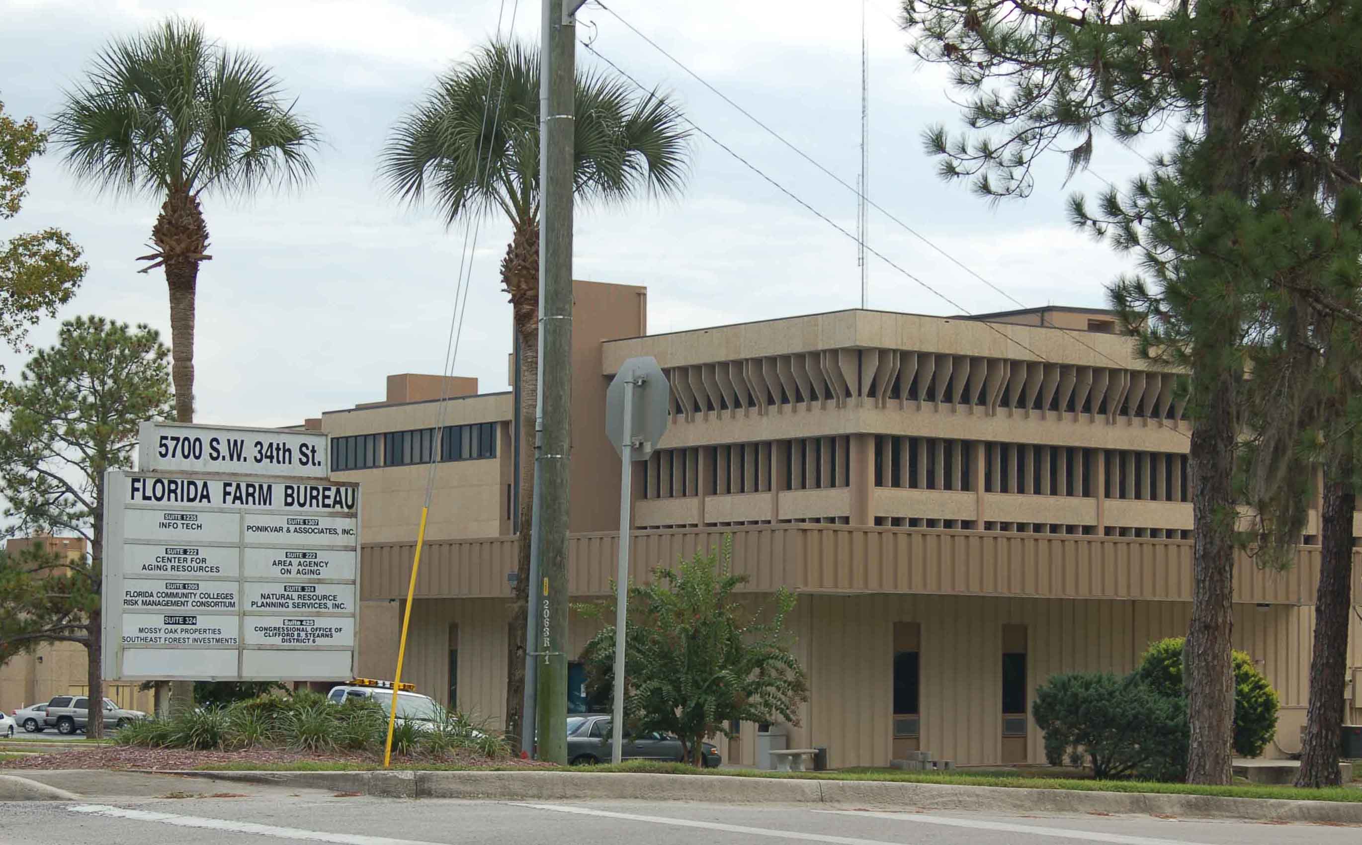
M354 676L360 485L320 432L144 422L105 478L104 676Z

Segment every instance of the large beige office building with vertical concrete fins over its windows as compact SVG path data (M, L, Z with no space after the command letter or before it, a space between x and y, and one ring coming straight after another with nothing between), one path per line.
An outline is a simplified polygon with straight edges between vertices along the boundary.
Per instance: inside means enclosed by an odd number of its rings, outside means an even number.
M1186 632L1190 424L1175 376L1136 358L1110 312L842 311L648 335L642 288L577 282L573 323L572 594L609 590L620 465L605 388L650 354L671 384L671 425L635 467L632 577L731 534L753 604L799 594L810 699L798 725L771 726L793 746L827 746L839 767L911 748L1042 762L1027 717L1039 683L1129 671L1151 641ZM498 720L519 542L512 397L458 382L443 387L452 401L432 401L440 390L390 379L387 402L316 424L340 477L365 485L365 672L392 672L434 454L403 675ZM436 443L441 418L454 428ZM1314 526L1290 571L1237 564L1235 646L1282 695L1273 754L1298 748L1305 718ZM572 620L573 651L591 632ZM1340 703L1357 720L1357 621L1348 664ZM740 728L725 754L752 763L757 726Z

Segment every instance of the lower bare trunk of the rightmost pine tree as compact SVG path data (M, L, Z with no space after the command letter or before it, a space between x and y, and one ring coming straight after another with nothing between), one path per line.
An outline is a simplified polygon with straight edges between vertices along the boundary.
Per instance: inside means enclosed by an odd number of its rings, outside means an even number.
M1343 741L1343 681L1347 675L1348 608L1352 604L1352 459L1327 470L1320 514L1320 585L1314 600L1310 699L1297 786L1337 786Z

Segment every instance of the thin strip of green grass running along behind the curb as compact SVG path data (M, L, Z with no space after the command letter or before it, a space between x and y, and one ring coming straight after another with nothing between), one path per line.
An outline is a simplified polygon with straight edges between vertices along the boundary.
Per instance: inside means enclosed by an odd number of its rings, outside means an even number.
M467 766L422 766L395 765L394 769L419 771L470 771ZM202 766L204 771L372 771L380 766L361 763L300 762L252 766L232 763L226 766ZM484 766L479 771L518 770L523 767ZM1152 792L1171 795L1209 795L1234 799L1286 799L1313 801L1359 801L1362 789L1336 786L1331 789L1297 789L1294 786L1235 785L1235 786L1192 786L1188 784L1159 784L1144 781L1095 781L1077 777L1072 770L1060 770L1068 777L1056 777L1054 770L1030 769L956 769L949 773L900 771L898 769L843 769L838 771L760 771L756 769L695 769L681 763L632 762L618 766L582 766L568 769L582 773L644 773L644 774L691 774L764 777L764 778L806 778L828 781L891 781L908 784L948 784L955 786L1002 786L1027 789L1076 789L1084 792Z

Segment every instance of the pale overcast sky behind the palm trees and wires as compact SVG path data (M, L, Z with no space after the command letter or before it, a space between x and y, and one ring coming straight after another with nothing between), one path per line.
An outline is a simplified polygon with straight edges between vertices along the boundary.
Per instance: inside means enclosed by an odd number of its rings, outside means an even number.
M609 0L625 20L847 183L859 164L861 11L854 0ZM214 259L199 273L197 420L283 425L379 399L392 372L439 372L463 243L430 214L384 196L375 159L394 121L434 75L489 40L498 12L538 41L539 3L522 0L0 0L0 101L39 124L112 35L192 16L272 65L297 108L320 125L317 179L298 194L251 203L211 198ZM1068 194L1095 194L1143 162L1099 139L1095 174L1065 188L1064 162L1027 200L990 207L936 176L925 127L960 127L940 68L921 65L893 23L891 0L869 0L870 195L899 219L1027 305L1100 307L1129 259L1069 228ZM588 4L579 34L820 213L855 229L855 198L706 90L663 55ZM595 26L588 26L594 23ZM580 67L594 57L577 50ZM147 322L169 342L161 271L138 274L159 200L113 200L75 184L52 153L34 166L19 217L0 239L44 226L69 230L90 274L63 316ZM455 371L482 391L507 388L511 308L497 264L509 226L481 228ZM1016 304L872 210L868 243L970 312ZM576 218L573 275L648 286L648 327L712 324L853 308L855 243L722 149L697 138L684 196ZM957 308L870 258L872 308ZM57 320L34 342L46 345ZM0 354L16 376L23 356Z

